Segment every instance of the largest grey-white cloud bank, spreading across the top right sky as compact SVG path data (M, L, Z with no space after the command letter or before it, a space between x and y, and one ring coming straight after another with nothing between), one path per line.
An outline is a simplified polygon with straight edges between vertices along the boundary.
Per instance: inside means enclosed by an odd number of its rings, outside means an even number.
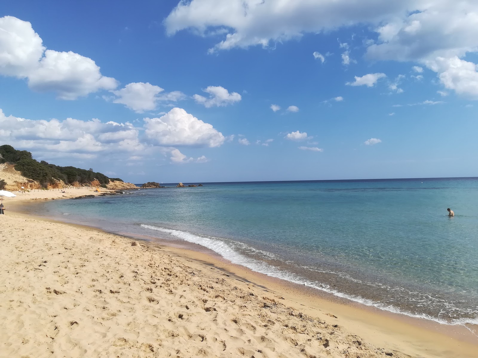
M477 99L476 64L462 60L478 50L477 10L476 1L470 0L458 5L451 0L231 0L221 6L217 0L191 0L180 1L163 24L168 35L190 29L199 36L220 36L209 53L270 49L305 33L365 24L376 38L364 42L366 58L415 62L434 71L446 88ZM348 44L339 46L348 50Z

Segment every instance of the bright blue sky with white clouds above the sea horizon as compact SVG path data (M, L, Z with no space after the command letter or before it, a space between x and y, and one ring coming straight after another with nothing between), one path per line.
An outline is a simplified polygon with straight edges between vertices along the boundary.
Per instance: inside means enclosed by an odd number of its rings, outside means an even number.
M450 0L4 3L0 143L135 183L478 176L477 19Z

